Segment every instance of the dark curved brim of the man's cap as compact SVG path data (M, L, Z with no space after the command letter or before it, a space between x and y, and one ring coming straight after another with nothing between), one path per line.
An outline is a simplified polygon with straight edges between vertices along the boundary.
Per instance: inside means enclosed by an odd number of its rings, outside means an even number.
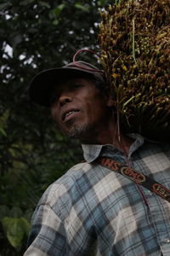
M94 73L86 70L82 71L80 69L72 67L56 67L42 71L31 80L29 90L31 100L39 105L49 108L49 98L51 96L51 90L53 89L54 85L56 84L57 86L61 84L64 80L66 81L71 77L81 75L94 77Z

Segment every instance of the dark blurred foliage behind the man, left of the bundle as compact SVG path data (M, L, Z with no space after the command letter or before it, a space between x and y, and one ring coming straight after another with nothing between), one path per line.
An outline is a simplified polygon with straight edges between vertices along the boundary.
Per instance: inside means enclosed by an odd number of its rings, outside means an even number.
M77 141L57 130L49 110L28 96L31 78L99 53L99 9L113 1L0 1L0 255L23 255L37 201L50 183L82 160ZM81 53L78 60L97 65Z

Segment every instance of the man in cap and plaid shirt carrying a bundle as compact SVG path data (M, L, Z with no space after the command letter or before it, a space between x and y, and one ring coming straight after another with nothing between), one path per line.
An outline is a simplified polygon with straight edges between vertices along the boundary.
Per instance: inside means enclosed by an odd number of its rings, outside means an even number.
M98 162L116 160L170 188L169 143L119 134L103 73L86 62L37 74L30 95L80 140L86 162L42 195L25 256L170 255L169 202Z

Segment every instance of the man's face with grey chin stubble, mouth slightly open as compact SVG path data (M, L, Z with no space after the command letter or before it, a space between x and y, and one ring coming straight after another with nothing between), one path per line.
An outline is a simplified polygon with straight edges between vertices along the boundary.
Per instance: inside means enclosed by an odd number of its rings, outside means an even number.
M90 137L108 119L106 96L89 79L71 79L59 84L53 94L52 115L68 137Z

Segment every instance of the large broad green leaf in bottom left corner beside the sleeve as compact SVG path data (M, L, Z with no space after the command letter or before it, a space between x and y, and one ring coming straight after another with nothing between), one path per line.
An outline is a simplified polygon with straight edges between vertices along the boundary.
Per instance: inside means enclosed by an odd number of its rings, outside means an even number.
M20 247L21 241L25 235L25 229L23 228L23 220L21 218L8 218L5 217L2 220L3 230L6 233L8 241L14 247Z

